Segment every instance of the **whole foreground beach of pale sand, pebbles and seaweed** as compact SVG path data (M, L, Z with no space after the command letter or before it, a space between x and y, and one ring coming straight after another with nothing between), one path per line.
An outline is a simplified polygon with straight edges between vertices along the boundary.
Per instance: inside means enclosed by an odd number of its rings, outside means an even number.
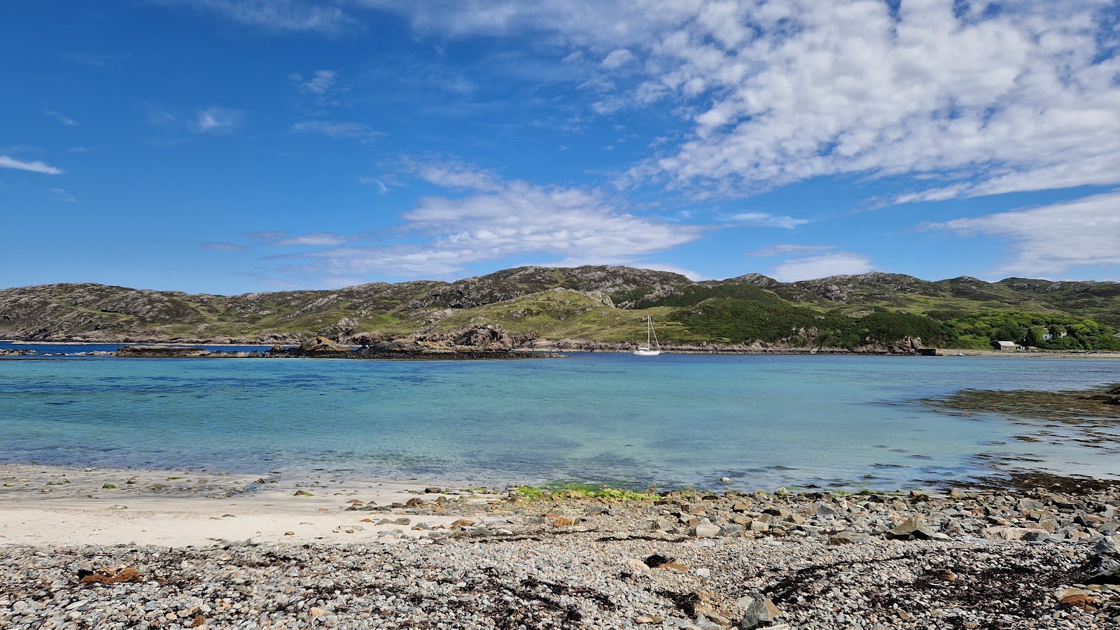
M588 496L28 464L0 477L6 628L1120 622L1120 490L1092 480Z

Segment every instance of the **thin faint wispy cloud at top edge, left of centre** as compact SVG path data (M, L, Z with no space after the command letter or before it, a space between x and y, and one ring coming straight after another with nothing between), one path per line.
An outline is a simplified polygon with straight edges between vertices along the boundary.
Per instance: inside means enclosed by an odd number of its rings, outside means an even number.
M318 32L335 36L352 30L356 20L338 7L310 0L151 0L187 4L236 22L273 32Z

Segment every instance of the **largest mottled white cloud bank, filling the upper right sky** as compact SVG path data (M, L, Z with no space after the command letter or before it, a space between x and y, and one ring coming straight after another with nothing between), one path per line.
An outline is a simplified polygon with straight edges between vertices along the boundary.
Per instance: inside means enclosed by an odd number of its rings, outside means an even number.
M933 200L1120 181L1112 0L362 3L452 36L553 34L564 58L603 59L586 85L616 85L604 115L668 101L691 133L634 182L904 176L928 190L897 200Z

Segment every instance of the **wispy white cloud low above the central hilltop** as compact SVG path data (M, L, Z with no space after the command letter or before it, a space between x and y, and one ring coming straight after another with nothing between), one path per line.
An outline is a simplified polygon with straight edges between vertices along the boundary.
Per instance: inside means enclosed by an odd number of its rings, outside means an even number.
M531 254L557 255L564 265L633 264L702 234L699 226L617 211L596 192L502 180L454 163L414 166L413 171L466 195L424 197L404 213L401 233L412 243L304 253L298 257L315 260L310 269L289 271L446 278L470 263Z

